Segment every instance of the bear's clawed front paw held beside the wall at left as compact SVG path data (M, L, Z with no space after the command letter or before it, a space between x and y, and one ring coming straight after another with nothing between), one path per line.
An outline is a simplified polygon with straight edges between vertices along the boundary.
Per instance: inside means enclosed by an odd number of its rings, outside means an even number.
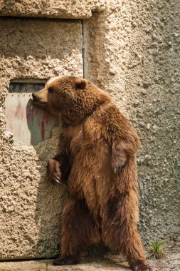
M51 183L60 184L61 172L60 172L60 163L58 161L53 159L48 160L47 173L48 180L51 181Z

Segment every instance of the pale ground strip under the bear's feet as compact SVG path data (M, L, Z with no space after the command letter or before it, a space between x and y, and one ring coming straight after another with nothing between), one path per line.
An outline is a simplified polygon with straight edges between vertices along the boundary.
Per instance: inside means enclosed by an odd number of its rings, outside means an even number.
M166 255L162 260L149 260L153 271L180 271L180 252ZM119 255L84 257L79 265L56 267L51 260L21 260L0 262L0 271L130 271Z

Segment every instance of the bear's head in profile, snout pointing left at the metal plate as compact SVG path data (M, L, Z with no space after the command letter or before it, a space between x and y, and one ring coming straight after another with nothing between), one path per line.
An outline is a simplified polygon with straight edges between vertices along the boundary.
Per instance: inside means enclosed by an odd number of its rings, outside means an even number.
M50 79L45 88L32 94L33 102L61 116L64 123L77 124L103 103L110 101L105 91L75 76Z

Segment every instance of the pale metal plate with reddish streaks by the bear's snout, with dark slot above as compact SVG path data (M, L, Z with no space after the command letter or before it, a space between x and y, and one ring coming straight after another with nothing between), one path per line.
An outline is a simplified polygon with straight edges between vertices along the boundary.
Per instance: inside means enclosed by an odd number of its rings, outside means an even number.
M4 112L6 130L14 134L15 144L37 145L51 136L57 118L31 101L31 93L43 86L43 83L10 83Z

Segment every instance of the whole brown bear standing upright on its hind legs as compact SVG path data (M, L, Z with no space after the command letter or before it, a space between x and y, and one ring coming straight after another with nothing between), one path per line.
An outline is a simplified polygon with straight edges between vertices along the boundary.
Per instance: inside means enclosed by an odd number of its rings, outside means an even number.
M152 270L137 232L139 139L110 96L75 76L53 78L33 102L60 116L58 155L48 178L66 182L60 257L54 265L80 262L83 250L104 242L122 252L132 270Z

